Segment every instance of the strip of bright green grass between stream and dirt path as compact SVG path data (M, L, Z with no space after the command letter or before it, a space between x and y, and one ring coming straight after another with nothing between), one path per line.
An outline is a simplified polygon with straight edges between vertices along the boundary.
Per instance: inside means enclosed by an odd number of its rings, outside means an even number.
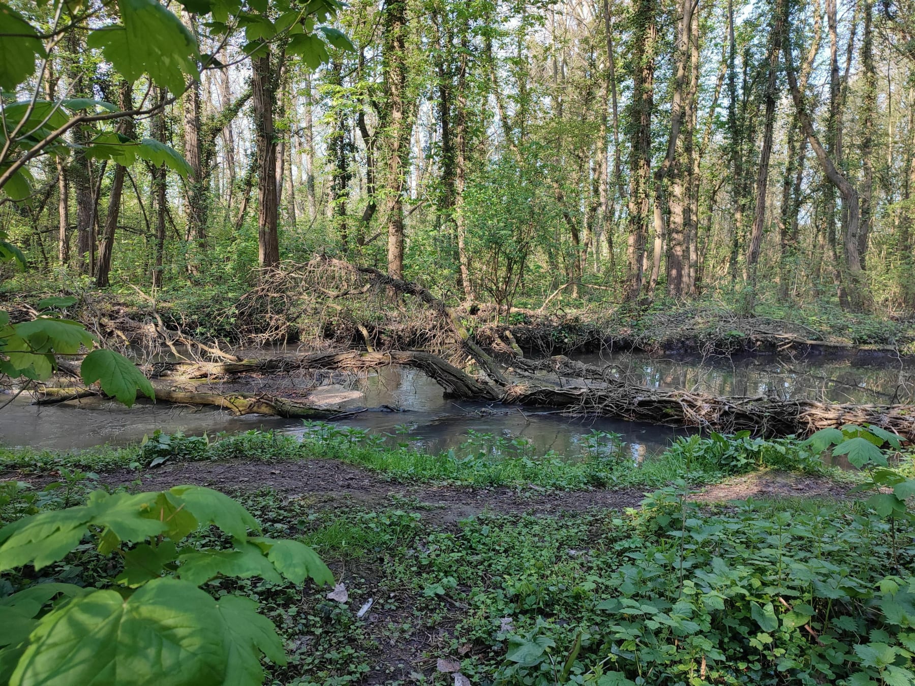
M838 470L827 469L817 456L791 439L693 436L677 440L661 455L638 464L617 434L593 432L581 445L581 453L568 458L552 452L536 456L532 445L522 439L471 432L459 451L432 455L415 450L408 442L392 446L384 436L361 429L309 423L301 440L261 431L212 440L207 436L156 433L143 445L118 448L101 446L70 452L0 448L0 466L7 470L66 468L103 472L180 461L329 458L401 482L561 490L659 488L678 478L694 485L710 484L759 467L838 475Z

